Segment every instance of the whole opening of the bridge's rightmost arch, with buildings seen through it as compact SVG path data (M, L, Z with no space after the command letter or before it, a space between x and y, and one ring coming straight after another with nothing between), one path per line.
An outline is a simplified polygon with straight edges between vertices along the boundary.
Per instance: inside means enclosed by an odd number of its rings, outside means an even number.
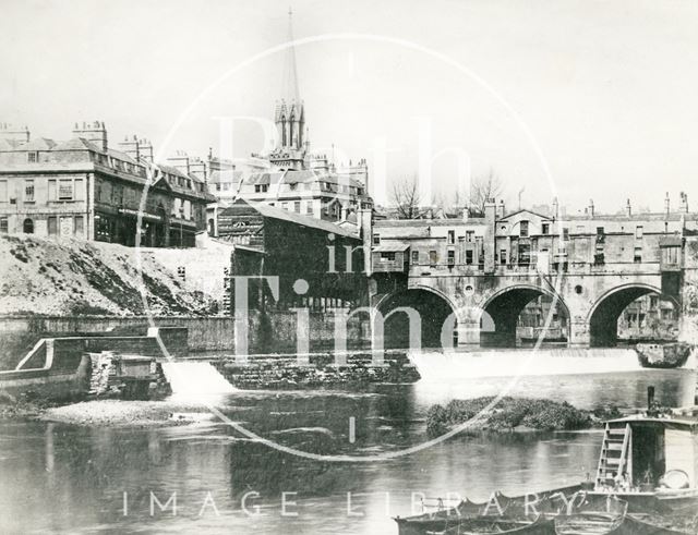
M651 299L646 300L646 296ZM662 302L670 304L672 317L669 318L669 321L665 321L666 318L662 318ZM592 348L618 345L621 341L618 324L624 315L628 317L628 319L623 318L624 321L622 321L624 323L625 336L623 338L625 341L633 341L631 327L651 336L654 320L664 323L663 338L672 338L670 333L671 320L677 320L678 309L678 305L673 300L662 299L661 291L651 285L629 284L611 290L597 301L589 315L590 345Z

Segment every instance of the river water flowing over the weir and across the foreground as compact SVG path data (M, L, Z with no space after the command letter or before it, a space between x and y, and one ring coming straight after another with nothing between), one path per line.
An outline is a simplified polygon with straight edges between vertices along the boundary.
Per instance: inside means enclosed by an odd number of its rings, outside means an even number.
M441 368L438 358L430 362ZM588 361L570 361L566 369L577 373L557 374L540 361L512 382L506 360L477 358L489 362L470 363L466 375L426 370L412 386L232 391L214 403L275 445L380 458L425 440L432 403L503 388L587 409L643 406L649 385L665 405L694 401L688 369L642 370L628 360L623 370L587 374ZM484 500L496 489L514 495L577 483L593 473L600 440L597 430L460 435L411 454L332 462L279 451L216 418L136 429L2 422L0 533L397 533L390 518L421 512L422 497ZM161 511L158 501L172 497Z

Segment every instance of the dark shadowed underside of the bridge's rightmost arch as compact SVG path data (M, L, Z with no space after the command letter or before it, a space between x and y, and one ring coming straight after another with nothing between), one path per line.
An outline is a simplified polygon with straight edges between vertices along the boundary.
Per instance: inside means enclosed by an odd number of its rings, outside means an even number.
M609 348L618 343L618 318L635 300L654 293L662 295L660 288L643 282L631 282L615 287L597 300L587 317L589 344L592 348ZM674 301L672 299L672 301ZM677 303L674 304L677 305Z

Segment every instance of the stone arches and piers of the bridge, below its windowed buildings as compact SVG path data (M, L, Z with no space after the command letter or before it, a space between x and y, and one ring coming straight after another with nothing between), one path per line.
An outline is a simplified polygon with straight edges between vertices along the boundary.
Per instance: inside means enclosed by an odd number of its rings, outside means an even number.
M438 345L449 315L461 348L515 346L516 328L527 304L547 295L566 316L568 346L616 343L622 312L636 299L662 293L661 272L540 273L492 276L417 276L374 293L372 304L384 316L399 306L417 309L424 326L423 344Z

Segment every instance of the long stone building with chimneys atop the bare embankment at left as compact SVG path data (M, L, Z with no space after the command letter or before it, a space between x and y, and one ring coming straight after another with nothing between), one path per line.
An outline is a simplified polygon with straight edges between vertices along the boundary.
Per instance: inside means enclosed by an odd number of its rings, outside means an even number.
M3 133L0 232L164 247L194 246L206 229L204 181L153 163L143 139L112 149L100 122L75 124L67 142Z

